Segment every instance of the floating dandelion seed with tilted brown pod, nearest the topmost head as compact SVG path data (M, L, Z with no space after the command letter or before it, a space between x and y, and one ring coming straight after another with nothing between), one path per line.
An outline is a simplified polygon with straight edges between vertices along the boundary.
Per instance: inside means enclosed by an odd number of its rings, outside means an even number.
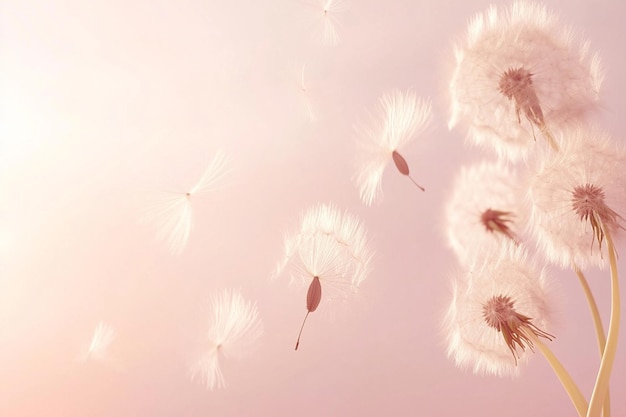
M409 165L399 150L422 134L432 118L430 101L398 90L383 94L377 110L372 124L357 128L361 152L354 180L368 206L382 198L383 172L390 160L424 191L410 176Z

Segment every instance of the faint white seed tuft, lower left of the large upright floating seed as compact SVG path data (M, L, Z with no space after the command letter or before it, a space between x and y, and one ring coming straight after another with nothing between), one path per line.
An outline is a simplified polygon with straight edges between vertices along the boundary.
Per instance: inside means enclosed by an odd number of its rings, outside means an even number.
M255 303L236 290L223 290L211 298L209 330L203 353L190 367L190 376L200 378L208 390L224 388L221 357L243 359L263 335Z

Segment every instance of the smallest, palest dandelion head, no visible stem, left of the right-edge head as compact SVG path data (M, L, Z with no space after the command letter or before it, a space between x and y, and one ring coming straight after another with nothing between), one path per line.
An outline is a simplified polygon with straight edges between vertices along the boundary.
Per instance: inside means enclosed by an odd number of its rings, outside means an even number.
M505 241L520 243L528 221L517 173L501 163L463 167L445 210L448 243L465 266Z

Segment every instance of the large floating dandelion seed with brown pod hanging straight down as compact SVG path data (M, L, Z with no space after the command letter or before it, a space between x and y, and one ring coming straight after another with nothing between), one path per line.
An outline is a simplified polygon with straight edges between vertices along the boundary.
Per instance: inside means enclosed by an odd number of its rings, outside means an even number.
M327 302L345 300L355 293L367 277L372 251L367 235L358 218L341 213L332 205L317 205L303 213L301 226L295 233L285 235L285 256L279 262L273 277L293 268L292 282L306 283L307 313L315 311L322 299Z

